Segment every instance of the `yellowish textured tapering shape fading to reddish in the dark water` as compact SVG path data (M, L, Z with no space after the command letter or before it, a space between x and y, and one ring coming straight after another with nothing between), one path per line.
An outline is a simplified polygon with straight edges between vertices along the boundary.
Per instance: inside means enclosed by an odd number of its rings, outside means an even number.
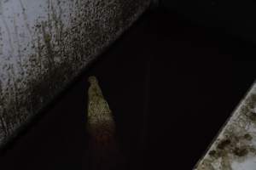
M119 169L120 155L115 140L115 123L96 77L89 77L88 122L90 166L93 170Z

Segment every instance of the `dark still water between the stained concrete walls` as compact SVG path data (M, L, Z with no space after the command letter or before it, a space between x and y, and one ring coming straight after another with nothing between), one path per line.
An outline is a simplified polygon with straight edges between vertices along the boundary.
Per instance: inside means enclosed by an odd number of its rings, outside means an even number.
M249 51L173 12L144 14L9 146L1 169L88 169L90 75L113 110L124 169L191 169L256 76Z

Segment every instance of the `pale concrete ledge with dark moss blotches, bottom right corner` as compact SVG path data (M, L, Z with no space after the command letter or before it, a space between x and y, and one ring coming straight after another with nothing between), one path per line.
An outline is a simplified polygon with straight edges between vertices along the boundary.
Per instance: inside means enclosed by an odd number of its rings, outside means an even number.
M224 124L195 170L253 170L256 167L256 82Z

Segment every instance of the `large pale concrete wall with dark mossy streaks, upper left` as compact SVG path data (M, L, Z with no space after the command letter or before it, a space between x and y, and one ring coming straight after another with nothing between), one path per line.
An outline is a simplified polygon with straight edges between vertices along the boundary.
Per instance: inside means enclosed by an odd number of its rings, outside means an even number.
M0 143L49 103L150 0L0 0Z

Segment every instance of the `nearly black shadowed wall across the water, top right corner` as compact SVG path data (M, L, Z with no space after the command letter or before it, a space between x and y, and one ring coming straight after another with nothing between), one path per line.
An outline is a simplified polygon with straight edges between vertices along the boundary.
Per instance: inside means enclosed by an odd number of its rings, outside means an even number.
M161 0L162 5L205 26L220 27L256 43L256 3L249 0Z

